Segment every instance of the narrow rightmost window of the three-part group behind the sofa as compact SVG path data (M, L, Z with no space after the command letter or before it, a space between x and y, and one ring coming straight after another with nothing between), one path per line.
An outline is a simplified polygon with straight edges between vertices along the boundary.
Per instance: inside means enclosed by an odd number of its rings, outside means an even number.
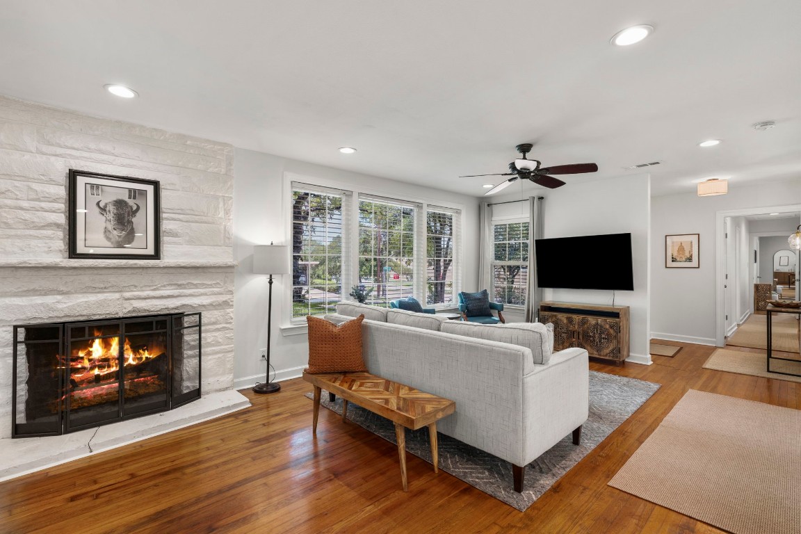
M425 273L425 302L453 304L454 246L458 211L429 208L425 214L425 247L427 265Z

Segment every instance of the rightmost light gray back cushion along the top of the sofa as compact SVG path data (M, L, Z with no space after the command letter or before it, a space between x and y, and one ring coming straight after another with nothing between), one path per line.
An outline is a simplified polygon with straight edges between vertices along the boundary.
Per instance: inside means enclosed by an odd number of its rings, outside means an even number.
M533 363L545 365L550 361L551 346L548 343L548 328L542 323L509 323L489 326L465 321L448 321L442 325L441 331L527 347L533 355Z

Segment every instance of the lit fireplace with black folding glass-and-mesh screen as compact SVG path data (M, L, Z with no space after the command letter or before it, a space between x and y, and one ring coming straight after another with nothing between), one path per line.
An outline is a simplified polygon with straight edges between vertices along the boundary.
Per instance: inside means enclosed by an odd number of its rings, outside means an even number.
M200 313L14 327L11 436L58 436L200 397Z

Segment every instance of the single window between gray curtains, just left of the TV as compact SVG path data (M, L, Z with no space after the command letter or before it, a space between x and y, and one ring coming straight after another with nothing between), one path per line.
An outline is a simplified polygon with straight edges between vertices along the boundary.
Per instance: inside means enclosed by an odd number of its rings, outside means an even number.
M493 300L525 306L529 276L529 223L493 225Z

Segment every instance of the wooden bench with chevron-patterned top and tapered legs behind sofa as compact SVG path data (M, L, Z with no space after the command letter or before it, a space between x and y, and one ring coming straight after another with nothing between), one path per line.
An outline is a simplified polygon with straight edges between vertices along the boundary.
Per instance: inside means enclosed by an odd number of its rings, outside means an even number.
M429 427L431 456L434 472L439 472L437 450L437 420L449 416L456 409L453 400L425 393L402 383L381 378L369 373L344 373L331 375L309 375L304 380L314 386L314 419L312 433L317 434L317 416L320 414L321 390L342 397L342 420L348 416L348 401L365 410L387 418L395 424L395 436L400 456L400 479L403 491L409 491L406 478L406 428L417 430Z

